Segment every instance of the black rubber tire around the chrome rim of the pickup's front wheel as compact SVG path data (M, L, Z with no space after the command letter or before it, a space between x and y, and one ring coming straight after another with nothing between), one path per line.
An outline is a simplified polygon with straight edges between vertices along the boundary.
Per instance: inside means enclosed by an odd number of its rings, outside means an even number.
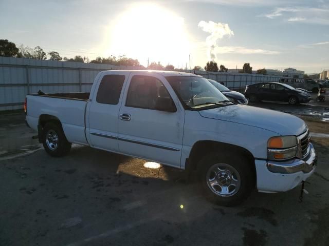
M236 206L240 204L244 199L246 199L255 187L254 169L250 166L248 159L244 156L212 152L203 157L198 165L200 174L199 180L202 186L203 194L207 199L218 205L227 207ZM217 173L216 177L214 177L214 180L216 179L218 181L221 180L221 178L226 179L224 182L229 180L229 185L226 183L227 190L229 191L229 187L233 186L230 180L233 180L231 177L234 176L236 180L240 180L240 186L235 186L235 188L237 188L236 191L234 191L235 193L233 192L232 194L228 195L218 194L216 192L221 193L221 189L215 191L216 185L212 186L212 188L210 187L211 185L208 185L207 180L209 177L211 177L212 174L214 174L214 172L211 172L210 170L212 170L217 165L220 166L221 169L228 167L233 168L230 170L230 172L225 172L226 174L232 174L226 177L224 177L225 174L223 174L222 171L218 170L219 172ZM226 166L223 167L223 165ZM217 171L217 169L215 170ZM235 172L237 172L237 174ZM210 176L208 176L208 173L210 173ZM218 188L223 186L223 183L220 182L223 182L223 180L217 182ZM223 187L225 187L225 185Z

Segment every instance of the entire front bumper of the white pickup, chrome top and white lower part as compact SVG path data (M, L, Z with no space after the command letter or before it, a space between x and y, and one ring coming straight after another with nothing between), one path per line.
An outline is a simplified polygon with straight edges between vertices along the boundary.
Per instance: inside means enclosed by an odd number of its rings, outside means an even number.
M317 155L312 144L304 160L285 162L255 160L257 189L260 192L284 192L294 189L316 169Z

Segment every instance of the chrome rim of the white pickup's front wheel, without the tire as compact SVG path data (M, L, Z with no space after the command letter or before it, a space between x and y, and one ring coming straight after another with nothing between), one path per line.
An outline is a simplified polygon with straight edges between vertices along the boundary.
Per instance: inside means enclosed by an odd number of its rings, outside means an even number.
M206 179L210 190L218 196L233 196L241 186L240 174L226 163L212 165Z

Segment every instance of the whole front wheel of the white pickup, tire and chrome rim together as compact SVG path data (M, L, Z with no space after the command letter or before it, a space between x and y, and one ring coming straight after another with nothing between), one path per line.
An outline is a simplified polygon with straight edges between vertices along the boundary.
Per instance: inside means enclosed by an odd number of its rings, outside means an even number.
M200 160L203 193L221 206L235 206L254 188L253 169L242 156L210 153Z

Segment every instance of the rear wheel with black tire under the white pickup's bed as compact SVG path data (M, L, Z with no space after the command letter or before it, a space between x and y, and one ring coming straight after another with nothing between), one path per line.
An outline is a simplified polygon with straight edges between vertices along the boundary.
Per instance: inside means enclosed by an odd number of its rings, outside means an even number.
M45 151L54 157L64 156L71 149L71 143L67 141L62 127L54 122L48 122L43 128L42 144Z

